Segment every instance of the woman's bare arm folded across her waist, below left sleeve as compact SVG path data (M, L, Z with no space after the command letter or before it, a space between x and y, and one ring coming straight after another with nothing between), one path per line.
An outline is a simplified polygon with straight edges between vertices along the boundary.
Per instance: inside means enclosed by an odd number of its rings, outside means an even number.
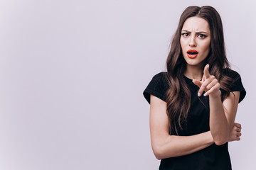
M151 146L156 159L178 157L191 154L212 145L210 131L192 136L169 135L166 102L150 96L150 135Z

